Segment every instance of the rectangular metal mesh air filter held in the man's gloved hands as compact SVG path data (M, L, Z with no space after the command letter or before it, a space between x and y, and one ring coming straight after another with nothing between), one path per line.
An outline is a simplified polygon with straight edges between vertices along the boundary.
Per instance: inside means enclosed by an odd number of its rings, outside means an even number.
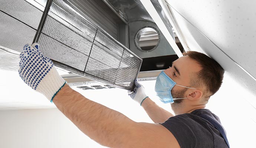
M58 67L132 90L142 59L62 0L47 1L33 42Z

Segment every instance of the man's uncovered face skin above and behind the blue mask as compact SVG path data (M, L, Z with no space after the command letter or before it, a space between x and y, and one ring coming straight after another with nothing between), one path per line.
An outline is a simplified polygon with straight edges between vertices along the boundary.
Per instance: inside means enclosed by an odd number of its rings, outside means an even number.
M200 71L200 65L196 63L193 59L188 56L180 57L175 60L172 64L172 67L164 70L165 74L168 75L174 82L178 85L190 87L191 78L194 78L194 75ZM186 98L188 88L180 87L175 85L171 90L173 98ZM172 107L180 104L183 99L174 100Z

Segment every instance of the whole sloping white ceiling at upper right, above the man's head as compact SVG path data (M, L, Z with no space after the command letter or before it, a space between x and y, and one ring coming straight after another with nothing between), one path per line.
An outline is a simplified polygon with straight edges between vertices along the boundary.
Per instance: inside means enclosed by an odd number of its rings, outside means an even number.
M256 95L256 1L166 1L188 48L213 57Z

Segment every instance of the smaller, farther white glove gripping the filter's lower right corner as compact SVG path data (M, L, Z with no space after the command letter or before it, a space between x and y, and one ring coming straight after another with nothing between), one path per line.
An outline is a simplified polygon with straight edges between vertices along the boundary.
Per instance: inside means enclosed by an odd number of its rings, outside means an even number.
M134 81L135 87L133 91L128 91L128 95L136 102L138 102L140 105L142 102L148 97L145 94L145 88L138 83L138 80L136 79Z

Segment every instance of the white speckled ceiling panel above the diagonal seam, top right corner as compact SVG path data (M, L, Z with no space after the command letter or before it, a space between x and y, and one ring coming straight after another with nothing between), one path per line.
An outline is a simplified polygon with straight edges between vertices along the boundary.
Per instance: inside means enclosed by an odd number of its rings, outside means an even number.
M255 0L166 0L170 4L174 17L183 17L187 23L179 25L193 26L209 38L224 54L243 67L256 78L256 1ZM188 26L185 26L187 25ZM188 32L190 30L187 30ZM184 35L185 38L187 36ZM188 41L188 39L187 39ZM196 37L192 44L203 43ZM194 46L191 50L197 50ZM209 53L211 48L203 48ZM233 72L235 72L234 69ZM253 80L255 81L255 79Z

